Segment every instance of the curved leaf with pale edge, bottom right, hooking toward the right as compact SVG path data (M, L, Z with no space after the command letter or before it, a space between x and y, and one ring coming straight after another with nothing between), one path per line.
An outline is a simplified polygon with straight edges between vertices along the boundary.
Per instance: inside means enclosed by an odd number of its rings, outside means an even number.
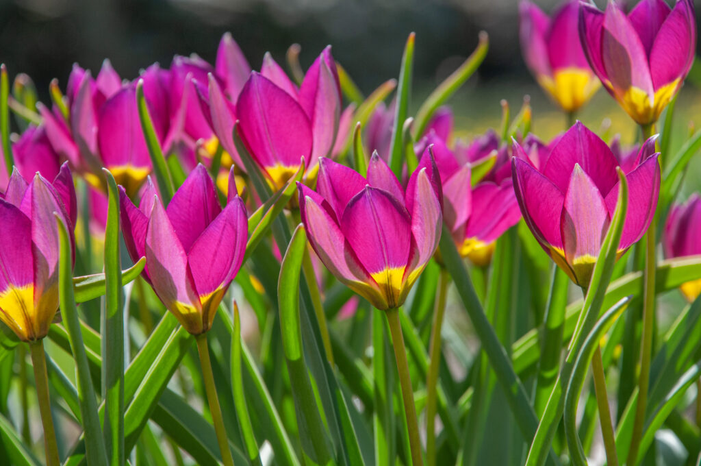
M589 371L594 351L599 347L601 337L608 331L608 328L611 328L615 319L618 319L629 302L630 298L623 298L611 309L608 309L604 316L599 319L592 331L587 335L572 368L572 375L565 394L564 426L570 455L576 456L574 459L575 464L587 464L587 458L577 434L577 408L580 393L584 387L584 380Z

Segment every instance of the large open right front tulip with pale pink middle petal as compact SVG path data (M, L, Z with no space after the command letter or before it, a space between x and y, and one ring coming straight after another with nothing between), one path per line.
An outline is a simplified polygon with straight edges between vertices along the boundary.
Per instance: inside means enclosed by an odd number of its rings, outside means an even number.
M526 225L572 281L587 288L618 201L618 161L579 122L554 145L540 171L517 142L514 151L519 154L512 159L514 189ZM619 257L641 239L655 214L660 166L654 151L655 138L650 138L635 168L625 174L629 200Z

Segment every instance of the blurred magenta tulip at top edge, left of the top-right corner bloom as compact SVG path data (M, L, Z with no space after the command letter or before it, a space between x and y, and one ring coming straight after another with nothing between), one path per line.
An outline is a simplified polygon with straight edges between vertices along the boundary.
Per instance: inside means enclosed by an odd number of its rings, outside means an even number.
M565 112L576 112L600 86L579 40L579 1L566 1L549 18L538 6L524 0L519 15L526 65L540 87Z

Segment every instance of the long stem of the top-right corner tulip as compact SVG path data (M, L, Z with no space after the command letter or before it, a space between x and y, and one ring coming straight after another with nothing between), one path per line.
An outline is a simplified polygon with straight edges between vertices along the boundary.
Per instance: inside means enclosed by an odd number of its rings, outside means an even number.
M650 138L655 132L655 125L641 126L643 140ZM650 362L653 345L653 326L655 324L655 272L657 269L656 240L657 215L648 227L645 243L645 270L644 270L644 296L643 296L643 330L640 343L640 373L638 376L638 402L635 409L635 422L633 434L630 439L627 465L637 464L638 450L645 426L645 411L648 401L648 389L650 385Z

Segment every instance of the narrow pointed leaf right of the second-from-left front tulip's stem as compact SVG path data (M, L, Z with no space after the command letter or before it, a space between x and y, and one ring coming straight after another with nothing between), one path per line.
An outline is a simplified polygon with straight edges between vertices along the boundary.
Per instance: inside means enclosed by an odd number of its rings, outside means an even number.
M251 465L260 465L261 458L258 451L251 418L248 415L248 406L243 389L243 377L241 375L241 323L238 317L238 305L233 302L233 332L231 332L231 388L233 392L233 404L236 408L241 434L248 453Z

